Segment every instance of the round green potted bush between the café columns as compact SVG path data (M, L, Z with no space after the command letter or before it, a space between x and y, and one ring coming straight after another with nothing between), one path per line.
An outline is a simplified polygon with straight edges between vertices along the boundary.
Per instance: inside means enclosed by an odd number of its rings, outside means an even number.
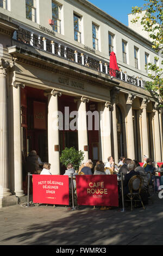
M62 150L60 156L60 162L67 166L68 163L73 164L75 170L79 169L80 164L84 160L84 152L82 150L76 150L74 147L65 148Z

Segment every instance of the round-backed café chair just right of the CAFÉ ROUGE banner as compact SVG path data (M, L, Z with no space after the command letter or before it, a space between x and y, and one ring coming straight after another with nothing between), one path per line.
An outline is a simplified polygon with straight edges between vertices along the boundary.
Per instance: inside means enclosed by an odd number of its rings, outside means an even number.
M141 202L143 209L145 210L145 206L143 205L142 199L141 199L141 188L143 184L143 179L140 175L134 175L129 180L128 186L129 186L129 193L126 195L125 200L131 202L131 211L133 211L133 201L135 202Z

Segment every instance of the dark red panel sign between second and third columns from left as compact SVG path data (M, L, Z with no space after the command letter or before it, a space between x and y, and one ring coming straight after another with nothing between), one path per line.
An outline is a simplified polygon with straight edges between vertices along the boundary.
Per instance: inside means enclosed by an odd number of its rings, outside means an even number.
M34 129L46 130L46 103L34 101Z

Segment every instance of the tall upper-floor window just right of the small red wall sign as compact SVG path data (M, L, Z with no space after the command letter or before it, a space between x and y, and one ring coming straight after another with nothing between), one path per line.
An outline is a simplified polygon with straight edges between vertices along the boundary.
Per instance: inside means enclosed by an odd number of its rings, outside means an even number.
M54 21L53 31L61 33L61 20L60 20L61 6L52 1L52 20Z

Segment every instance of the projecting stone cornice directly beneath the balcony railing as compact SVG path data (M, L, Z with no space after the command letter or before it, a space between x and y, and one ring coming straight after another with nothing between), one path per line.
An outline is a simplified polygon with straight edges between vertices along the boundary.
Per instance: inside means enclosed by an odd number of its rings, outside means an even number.
M55 74L75 78L86 83L90 83L99 87L108 88L112 86L118 86L119 82L112 81L108 78L95 75L89 71L85 71L81 68L76 68L68 64L59 62L56 59L41 56L41 54L30 52L27 49L23 49L17 46L9 47L9 53L14 57L15 62L21 62L28 65L36 66L44 70L52 71ZM68 61L67 61L68 62ZM75 72L77 71L77 72ZM90 77L90 78L88 78ZM95 79L96 78L96 79ZM97 79L101 81L97 81ZM107 84L106 84L107 83Z

